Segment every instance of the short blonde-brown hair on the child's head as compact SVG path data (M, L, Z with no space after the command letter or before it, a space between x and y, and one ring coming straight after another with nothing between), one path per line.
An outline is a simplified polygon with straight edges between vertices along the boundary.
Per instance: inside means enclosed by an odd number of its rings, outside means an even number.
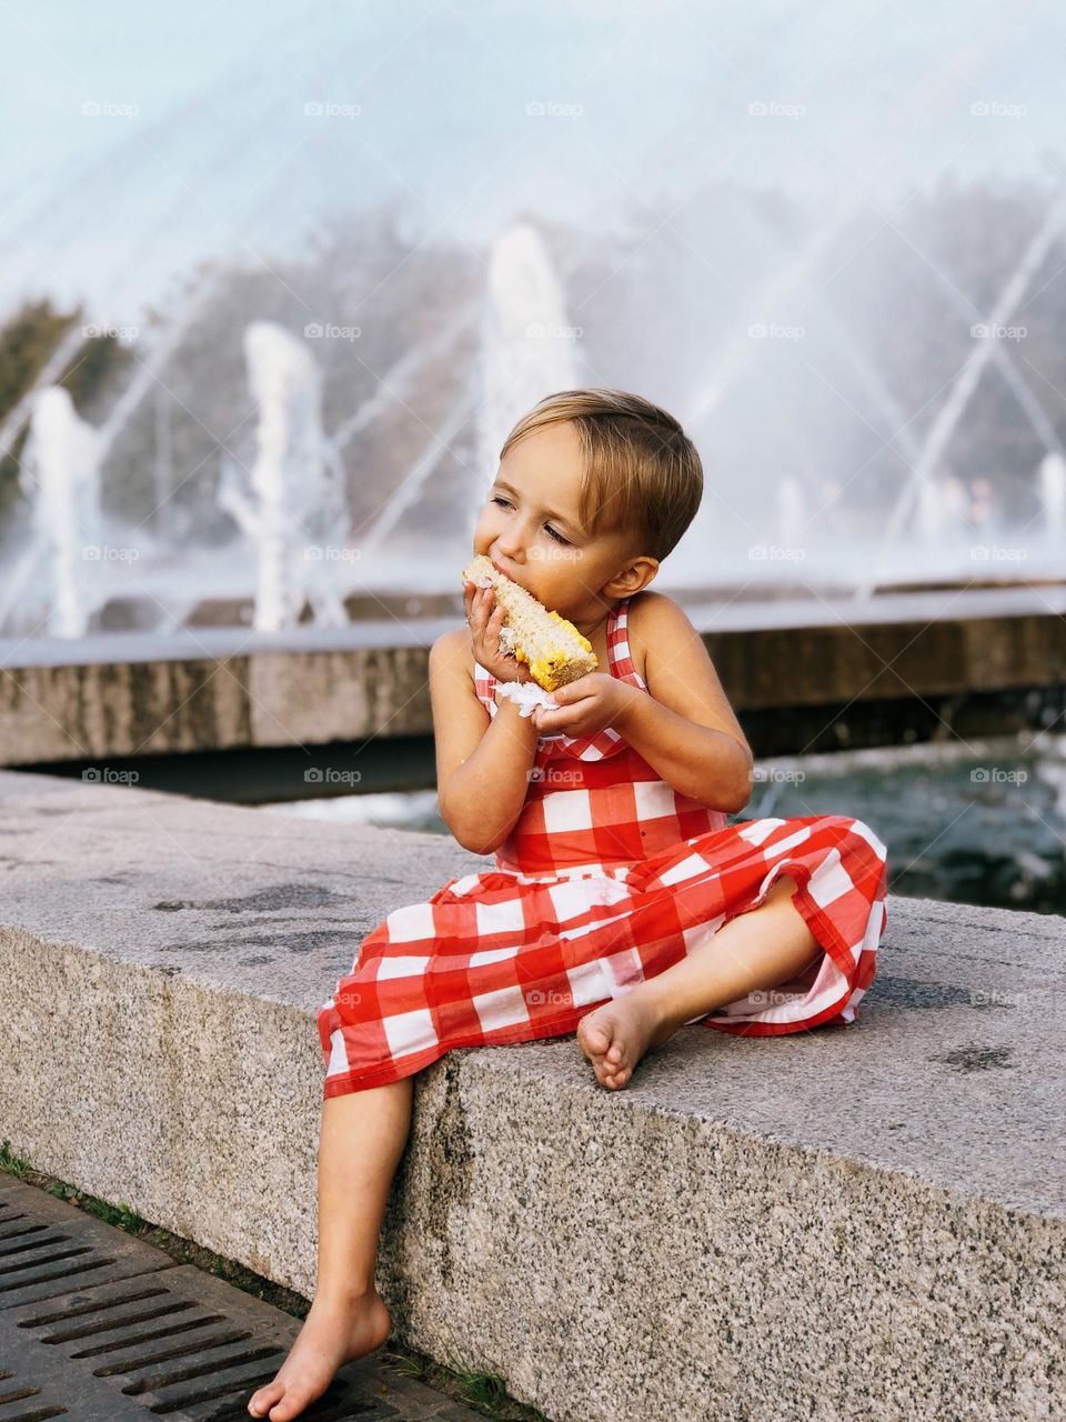
M560 390L507 435L500 459L533 429L573 421L584 454L578 512L588 533L632 533L634 553L662 560L704 496L704 466L678 421L624 390Z

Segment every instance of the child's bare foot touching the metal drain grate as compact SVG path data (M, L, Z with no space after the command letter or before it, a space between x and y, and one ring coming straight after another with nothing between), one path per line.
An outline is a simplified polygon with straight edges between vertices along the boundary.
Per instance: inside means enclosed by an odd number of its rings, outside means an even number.
M379 1348L391 1327L377 1290L343 1303L316 1297L277 1376L252 1394L250 1415L270 1422L298 1416L325 1392L338 1368Z

